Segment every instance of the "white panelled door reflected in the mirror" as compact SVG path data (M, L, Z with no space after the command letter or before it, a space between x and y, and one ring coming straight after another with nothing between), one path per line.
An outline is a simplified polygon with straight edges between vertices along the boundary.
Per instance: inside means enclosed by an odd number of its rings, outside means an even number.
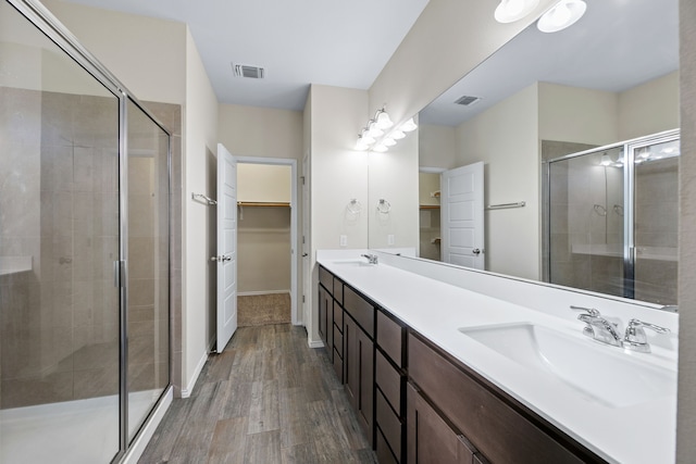
M443 262L485 268L483 163L440 175Z

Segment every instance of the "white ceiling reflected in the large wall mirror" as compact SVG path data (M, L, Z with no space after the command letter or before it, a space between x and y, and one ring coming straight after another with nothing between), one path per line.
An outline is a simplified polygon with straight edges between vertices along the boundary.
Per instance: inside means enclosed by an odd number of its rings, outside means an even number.
M535 81L622 91L679 67L678 0L586 0L573 26L544 34L533 24L420 113L457 126ZM471 106L453 102L481 97Z

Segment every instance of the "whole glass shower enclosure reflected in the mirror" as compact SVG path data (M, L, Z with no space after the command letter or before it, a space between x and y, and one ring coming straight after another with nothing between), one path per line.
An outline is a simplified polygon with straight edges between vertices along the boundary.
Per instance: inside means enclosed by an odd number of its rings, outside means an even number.
M676 304L679 131L549 160L544 278Z

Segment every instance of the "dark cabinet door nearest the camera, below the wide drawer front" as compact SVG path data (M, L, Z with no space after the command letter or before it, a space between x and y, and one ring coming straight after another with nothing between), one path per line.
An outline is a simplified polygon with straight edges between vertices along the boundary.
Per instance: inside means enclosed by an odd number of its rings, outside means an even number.
M471 464L473 451L408 384L407 448L409 464Z

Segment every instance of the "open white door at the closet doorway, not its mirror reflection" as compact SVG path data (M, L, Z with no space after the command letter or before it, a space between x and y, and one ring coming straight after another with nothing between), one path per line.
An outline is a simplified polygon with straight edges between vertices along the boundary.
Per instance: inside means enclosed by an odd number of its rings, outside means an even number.
M217 347L237 329L237 161L217 143Z

